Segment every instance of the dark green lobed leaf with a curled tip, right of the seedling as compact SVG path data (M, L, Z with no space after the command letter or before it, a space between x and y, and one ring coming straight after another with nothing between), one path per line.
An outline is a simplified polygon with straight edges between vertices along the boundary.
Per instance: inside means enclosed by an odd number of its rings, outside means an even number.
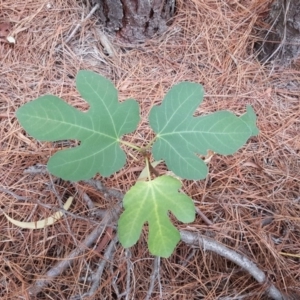
M165 160L181 178L198 180L207 176L207 167L197 155L206 155L208 150L233 154L258 134L251 106L241 117L229 111L193 117L203 95L201 85L182 82L173 86L162 104L150 111L150 126L157 134L153 156L155 160Z

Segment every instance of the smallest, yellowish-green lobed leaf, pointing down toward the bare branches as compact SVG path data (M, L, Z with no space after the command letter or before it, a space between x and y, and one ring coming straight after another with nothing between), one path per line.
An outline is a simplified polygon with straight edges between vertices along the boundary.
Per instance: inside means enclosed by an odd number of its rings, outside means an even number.
M181 222L195 219L193 201L178 190L181 182L171 176L137 182L125 195L125 211L118 222L118 237L123 247L133 246L143 225L148 222L148 247L151 254L169 257L180 240L179 231L168 216L171 211Z

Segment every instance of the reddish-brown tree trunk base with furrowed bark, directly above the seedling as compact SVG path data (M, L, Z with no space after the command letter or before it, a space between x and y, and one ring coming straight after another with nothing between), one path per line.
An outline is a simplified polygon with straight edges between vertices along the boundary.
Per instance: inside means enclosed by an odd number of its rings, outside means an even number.
M129 42L143 42L164 32L175 0L93 0L105 27Z

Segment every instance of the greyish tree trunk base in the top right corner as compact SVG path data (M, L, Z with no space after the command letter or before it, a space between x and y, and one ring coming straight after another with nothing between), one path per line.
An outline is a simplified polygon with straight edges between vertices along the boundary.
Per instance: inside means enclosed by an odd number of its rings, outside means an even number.
M262 62L289 64L300 56L300 1L275 0L266 20L270 28L259 45Z

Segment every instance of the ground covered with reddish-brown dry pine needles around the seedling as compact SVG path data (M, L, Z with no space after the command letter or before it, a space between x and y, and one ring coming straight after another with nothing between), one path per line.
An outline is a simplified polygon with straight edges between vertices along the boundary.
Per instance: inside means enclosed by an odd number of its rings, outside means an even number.
M15 46L0 42L1 209L16 219L35 221L58 207L57 194L75 197L73 215L45 229L20 229L0 216L1 299L32 299L29 286L95 228L83 192L103 208L115 201L84 183L51 184L49 175L23 173L36 163L46 164L57 148L27 136L15 111L46 93L86 109L74 87L80 69L113 80L121 100L138 100L143 121L128 139L139 144L151 137L147 126L151 106L183 80L204 85L201 112L228 109L241 114L246 104L254 107L259 136L234 156L215 155L207 180L184 182L186 193L214 223L208 226L197 217L189 226L246 255L279 290L300 299L299 62L280 70L261 66L253 55L255 28L262 26L270 1L179 2L176 19L161 37L138 47L124 47L109 37L115 51L110 58L99 42L101 28L95 17L65 43L90 10L80 1L0 0L0 17L11 21L17 40ZM99 179L126 192L139 166L130 160L119 174ZM18 200L9 192L29 200ZM86 249L37 299L80 299L90 289L89 276L102 257L101 251ZM128 299L144 299L153 264L144 237L131 249L128 261L132 262ZM112 283L116 278L115 286L120 293L125 291L126 272L124 249L118 246L113 264L108 264L97 293L89 299L117 299ZM268 299L264 291L265 286L230 261L181 243L171 258L162 259L151 299Z

